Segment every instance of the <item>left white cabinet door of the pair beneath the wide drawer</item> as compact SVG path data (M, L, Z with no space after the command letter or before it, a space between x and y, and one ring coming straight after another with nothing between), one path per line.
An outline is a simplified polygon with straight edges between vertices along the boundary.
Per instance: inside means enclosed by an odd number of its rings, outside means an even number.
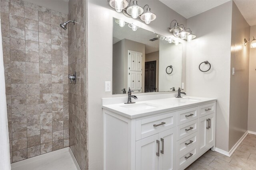
M136 170L158 170L158 134L136 141ZM159 151L160 154L160 151Z

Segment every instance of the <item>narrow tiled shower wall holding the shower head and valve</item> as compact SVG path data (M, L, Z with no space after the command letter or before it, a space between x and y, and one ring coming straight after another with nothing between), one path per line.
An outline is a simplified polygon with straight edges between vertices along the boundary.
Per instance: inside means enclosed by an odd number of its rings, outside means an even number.
M69 84L70 148L82 170L88 169L87 150L87 64L86 0L69 0L68 25L69 74L76 71L76 84Z

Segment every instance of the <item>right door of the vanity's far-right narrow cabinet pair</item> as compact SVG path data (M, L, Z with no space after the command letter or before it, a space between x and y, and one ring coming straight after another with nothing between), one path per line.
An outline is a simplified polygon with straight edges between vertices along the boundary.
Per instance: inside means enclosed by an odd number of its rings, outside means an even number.
M214 113L207 116L206 119L206 126L208 129L206 129L206 144L207 147L210 147L214 144L214 134L215 134L215 115Z

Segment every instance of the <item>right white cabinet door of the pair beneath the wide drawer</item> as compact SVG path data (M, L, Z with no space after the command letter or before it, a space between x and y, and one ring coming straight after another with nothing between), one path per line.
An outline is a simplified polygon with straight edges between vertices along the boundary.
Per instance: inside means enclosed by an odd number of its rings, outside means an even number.
M175 170L176 162L176 127L159 133L160 157L159 170Z

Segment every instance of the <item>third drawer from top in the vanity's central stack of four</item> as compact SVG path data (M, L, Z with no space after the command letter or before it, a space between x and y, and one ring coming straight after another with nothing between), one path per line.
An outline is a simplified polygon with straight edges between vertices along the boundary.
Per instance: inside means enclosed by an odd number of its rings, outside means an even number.
M177 141L177 154L181 154L182 152L185 152L186 150L194 147L197 145L198 140L198 132L193 133L183 139L180 139L180 141Z

